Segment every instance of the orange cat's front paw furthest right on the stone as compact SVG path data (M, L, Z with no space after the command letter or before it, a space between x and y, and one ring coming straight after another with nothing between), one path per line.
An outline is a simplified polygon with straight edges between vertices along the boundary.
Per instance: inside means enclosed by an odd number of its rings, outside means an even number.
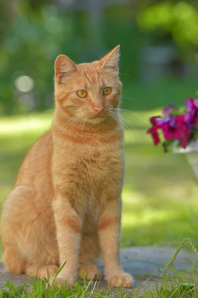
M106 278L107 282L112 287L123 287L123 288L132 288L133 279L128 273L120 273L118 275L114 275L109 279Z

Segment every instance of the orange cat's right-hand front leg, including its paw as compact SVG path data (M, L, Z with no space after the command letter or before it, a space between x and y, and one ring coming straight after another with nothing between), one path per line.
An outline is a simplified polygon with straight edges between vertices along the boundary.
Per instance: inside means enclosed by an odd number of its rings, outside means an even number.
M110 286L131 288L133 279L120 265L121 200L108 201L99 219L99 242L104 263L104 275Z

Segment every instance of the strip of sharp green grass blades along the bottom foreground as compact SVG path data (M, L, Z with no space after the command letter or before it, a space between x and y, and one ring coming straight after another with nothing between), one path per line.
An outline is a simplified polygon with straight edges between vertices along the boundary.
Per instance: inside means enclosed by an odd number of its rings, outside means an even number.
M34 282L32 286L25 284L14 286L11 282L0 287L0 298L197 298L198 284L172 283L170 280L155 285L155 289L148 288L142 291L127 291L124 289L105 289L76 284L74 289L67 290L65 286L59 289L57 286L49 287L45 280Z

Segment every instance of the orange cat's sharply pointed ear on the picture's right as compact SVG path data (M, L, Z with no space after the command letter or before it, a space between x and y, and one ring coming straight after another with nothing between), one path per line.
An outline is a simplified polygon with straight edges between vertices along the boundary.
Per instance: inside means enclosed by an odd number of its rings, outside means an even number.
M120 45L115 47L100 60L101 67L116 75L119 74Z

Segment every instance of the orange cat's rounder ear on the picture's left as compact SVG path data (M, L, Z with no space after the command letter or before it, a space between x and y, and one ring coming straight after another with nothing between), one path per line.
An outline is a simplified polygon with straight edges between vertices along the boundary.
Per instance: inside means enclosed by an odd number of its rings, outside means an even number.
M56 58L54 68L55 80L58 83L62 83L65 78L77 71L75 63L65 55L60 55Z

